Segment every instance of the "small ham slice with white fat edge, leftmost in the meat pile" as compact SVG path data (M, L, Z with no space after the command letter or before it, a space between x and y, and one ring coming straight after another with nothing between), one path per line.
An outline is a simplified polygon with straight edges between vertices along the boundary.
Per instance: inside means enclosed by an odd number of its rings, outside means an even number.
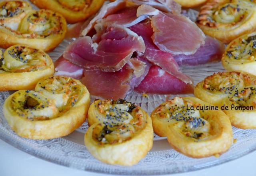
M80 79L83 76L84 69L72 64L70 61L60 56L55 62L55 73L54 75L69 76L75 79Z

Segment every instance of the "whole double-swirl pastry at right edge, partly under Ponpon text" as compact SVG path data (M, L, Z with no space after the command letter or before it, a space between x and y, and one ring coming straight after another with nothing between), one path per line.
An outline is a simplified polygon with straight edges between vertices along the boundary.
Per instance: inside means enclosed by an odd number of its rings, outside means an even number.
M237 128L256 128L254 92L256 76L242 72L219 72L196 85L196 97L225 107L231 124ZM227 107L227 109L226 109ZM254 122L255 121L255 122Z

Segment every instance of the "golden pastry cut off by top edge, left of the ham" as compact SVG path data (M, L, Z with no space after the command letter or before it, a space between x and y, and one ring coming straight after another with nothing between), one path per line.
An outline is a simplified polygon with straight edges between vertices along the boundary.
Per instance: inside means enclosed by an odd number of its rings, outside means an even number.
M62 14L68 23L86 20L96 14L104 0L30 0L39 8L54 10Z

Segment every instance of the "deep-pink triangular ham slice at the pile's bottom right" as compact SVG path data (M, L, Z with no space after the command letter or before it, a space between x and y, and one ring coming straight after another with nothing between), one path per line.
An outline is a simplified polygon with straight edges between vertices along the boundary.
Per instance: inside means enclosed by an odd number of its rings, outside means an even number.
M193 92L191 84L185 84L158 66L151 66L148 74L134 90L148 94L188 94Z

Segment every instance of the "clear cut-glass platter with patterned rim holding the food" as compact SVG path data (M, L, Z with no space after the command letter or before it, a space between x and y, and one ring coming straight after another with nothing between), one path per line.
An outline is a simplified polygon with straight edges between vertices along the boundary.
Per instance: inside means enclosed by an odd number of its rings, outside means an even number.
M193 18L192 12L188 12L187 15ZM56 60L62 55L66 46L72 40L74 39L64 40L53 52L49 53L51 58ZM182 72L193 78L194 84L197 84L214 72L224 71L220 62L199 66L185 66L181 69ZM17 136L10 129L2 111L4 101L10 94L11 92L0 92L0 138L29 154L80 170L124 175L172 174L216 166L256 150L256 130L242 130L233 127L234 139L237 139L237 142L231 146L230 150L218 158L211 156L201 159L189 158L176 152L170 147L166 138L154 135L152 150L138 164L131 167L108 165L96 160L84 146L84 133L88 128L87 122L63 138L30 140ZM130 92L126 96L126 100L136 102L136 104L140 105L150 114L156 106L166 101L166 98L172 97L174 95L154 94L148 95L148 98L146 98L136 92ZM94 98L91 97L92 100Z

